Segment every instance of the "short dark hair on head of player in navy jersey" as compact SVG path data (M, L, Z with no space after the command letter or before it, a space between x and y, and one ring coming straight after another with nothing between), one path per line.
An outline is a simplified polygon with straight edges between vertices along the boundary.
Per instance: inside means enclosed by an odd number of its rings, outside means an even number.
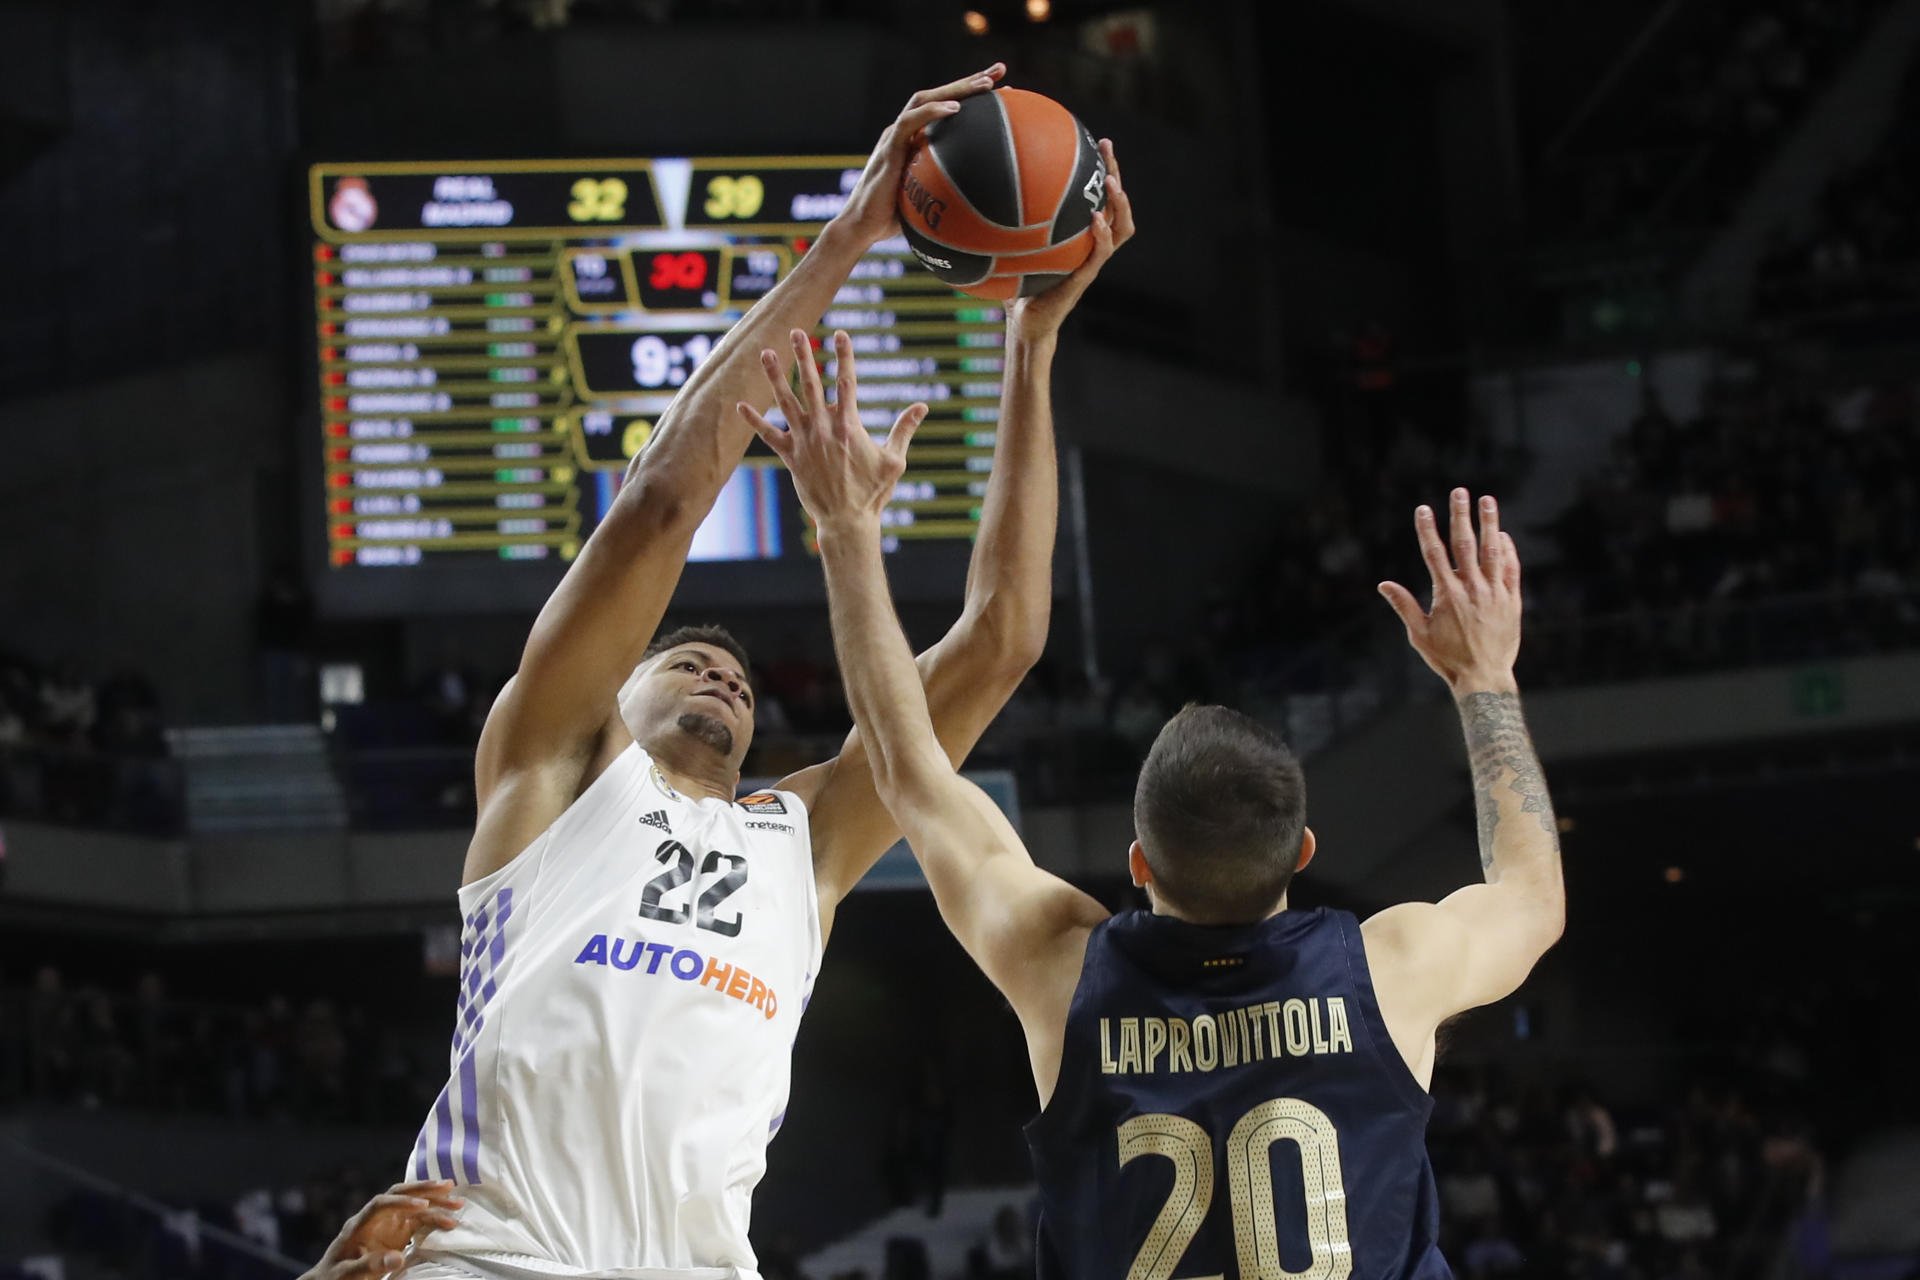
M1225 706L1188 704L1154 739L1133 829L1154 887L1204 925L1250 923L1300 862L1308 783L1281 735Z

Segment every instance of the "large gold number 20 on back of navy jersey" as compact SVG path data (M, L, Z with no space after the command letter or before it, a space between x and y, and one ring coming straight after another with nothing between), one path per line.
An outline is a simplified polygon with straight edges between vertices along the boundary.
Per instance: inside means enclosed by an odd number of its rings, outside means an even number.
M1281 1265L1273 1217L1275 1142L1300 1148L1300 1182L1308 1197L1308 1244L1313 1261L1306 1270ZM1140 1155L1173 1161L1173 1192L1160 1207L1146 1244L1133 1257L1127 1280L1173 1280L1187 1245L1213 1203L1213 1142L1183 1115L1137 1115L1119 1126L1119 1163ZM1340 1180L1340 1144L1332 1121L1298 1098L1263 1102L1227 1136L1227 1194L1233 1201L1233 1251L1240 1280L1346 1280L1354 1274L1354 1247L1346 1238L1346 1184ZM1225 1280L1194 1276L1192 1280Z

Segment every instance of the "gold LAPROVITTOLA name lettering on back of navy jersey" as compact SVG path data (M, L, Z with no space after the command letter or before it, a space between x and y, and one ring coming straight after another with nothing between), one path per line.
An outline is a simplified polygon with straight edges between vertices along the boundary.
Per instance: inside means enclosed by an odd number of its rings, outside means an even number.
M1116 1044L1117 1031L1117 1044ZM1102 1017L1100 1071L1213 1071L1269 1057L1352 1054L1346 998L1267 1000L1225 1013L1185 1017Z

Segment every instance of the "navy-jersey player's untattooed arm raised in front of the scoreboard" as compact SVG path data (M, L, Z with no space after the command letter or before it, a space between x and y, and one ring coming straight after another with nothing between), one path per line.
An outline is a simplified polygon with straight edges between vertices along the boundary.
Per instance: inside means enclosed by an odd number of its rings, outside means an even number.
M833 647L877 794L925 867L947 925L1020 1013L1035 1082L1046 1098L1060 1071L1060 1034L1087 931L1106 912L1033 865L1000 810L954 771L935 737L927 693L887 595L879 549L879 512L927 407L910 405L887 443L876 445L860 426L852 353L845 334L833 338L841 353L835 405L826 403L818 376L803 367L799 397L780 386L791 432L747 405L741 411L787 462L820 532ZM772 353L762 359L772 370Z

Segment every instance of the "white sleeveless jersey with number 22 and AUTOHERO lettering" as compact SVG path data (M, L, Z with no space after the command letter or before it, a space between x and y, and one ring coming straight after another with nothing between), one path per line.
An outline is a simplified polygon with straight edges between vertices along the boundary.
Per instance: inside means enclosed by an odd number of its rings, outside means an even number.
M461 913L453 1071L409 1176L467 1209L422 1255L751 1278L822 952L801 800L684 796L634 745Z

